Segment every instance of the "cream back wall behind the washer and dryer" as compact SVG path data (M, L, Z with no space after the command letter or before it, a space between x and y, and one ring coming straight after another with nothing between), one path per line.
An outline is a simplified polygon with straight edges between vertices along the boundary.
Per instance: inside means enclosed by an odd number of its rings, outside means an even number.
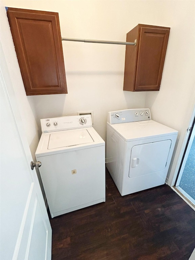
M144 22L130 2L4 1L10 7L59 12L62 37L110 41L126 41L126 33ZM144 14L145 7L136 6ZM105 140L108 111L145 106L145 92L123 91L125 45L67 41L62 45L68 94L27 97L30 106L36 106L39 129L41 118L94 111L93 126Z

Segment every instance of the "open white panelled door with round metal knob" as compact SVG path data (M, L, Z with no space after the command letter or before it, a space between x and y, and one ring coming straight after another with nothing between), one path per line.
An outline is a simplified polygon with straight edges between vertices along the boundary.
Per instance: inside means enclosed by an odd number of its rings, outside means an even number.
M51 259L51 226L2 48L0 87L0 259Z

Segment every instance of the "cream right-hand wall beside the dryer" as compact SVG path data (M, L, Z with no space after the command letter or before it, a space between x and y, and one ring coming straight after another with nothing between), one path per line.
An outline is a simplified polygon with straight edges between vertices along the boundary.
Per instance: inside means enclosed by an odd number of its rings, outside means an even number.
M145 105L154 120L179 131L168 180L180 163L179 153L195 105L195 1L167 1L165 5L163 16L171 30L161 88L146 94Z

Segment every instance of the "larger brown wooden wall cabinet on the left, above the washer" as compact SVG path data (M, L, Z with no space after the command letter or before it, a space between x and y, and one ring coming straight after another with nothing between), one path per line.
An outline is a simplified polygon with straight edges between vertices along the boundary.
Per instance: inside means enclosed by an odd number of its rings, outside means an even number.
M7 16L27 95L67 93L58 13L8 8Z

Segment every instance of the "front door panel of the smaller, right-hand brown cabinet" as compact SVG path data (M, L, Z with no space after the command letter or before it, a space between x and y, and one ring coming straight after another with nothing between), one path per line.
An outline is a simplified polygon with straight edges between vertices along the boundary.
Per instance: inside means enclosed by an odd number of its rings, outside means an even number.
M169 30L140 29L135 91L159 90Z

